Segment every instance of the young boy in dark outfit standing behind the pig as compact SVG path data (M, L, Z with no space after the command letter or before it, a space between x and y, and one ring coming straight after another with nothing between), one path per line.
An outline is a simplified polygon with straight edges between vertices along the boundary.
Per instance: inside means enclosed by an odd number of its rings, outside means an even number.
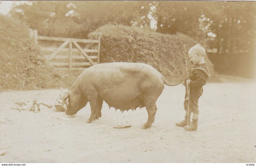
M185 120L181 121L180 123L176 123L175 125L184 127L185 130L189 131L197 130L197 121L199 115L198 99L203 94L203 86L206 84L207 78L210 77L208 64L204 60L204 55L205 50L200 44L196 44L188 51L188 57L193 66L189 69L188 80L183 84L186 86L184 100L184 109L186 111ZM189 87L189 100L187 85ZM192 123L190 123L191 112L193 112Z

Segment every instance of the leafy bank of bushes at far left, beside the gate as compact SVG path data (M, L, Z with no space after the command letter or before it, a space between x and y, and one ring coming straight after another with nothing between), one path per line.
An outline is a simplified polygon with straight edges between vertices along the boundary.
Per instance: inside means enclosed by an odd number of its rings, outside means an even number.
M0 88L30 90L68 87L64 73L45 64L40 48L28 37L28 26L0 15ZM67 82L68 83L67 83ZM67 86L65 86L67 85Z

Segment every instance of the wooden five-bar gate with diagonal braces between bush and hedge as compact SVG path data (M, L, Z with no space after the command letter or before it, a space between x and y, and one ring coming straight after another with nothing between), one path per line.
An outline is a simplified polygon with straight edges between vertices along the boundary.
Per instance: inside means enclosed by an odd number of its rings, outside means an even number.
M98 40L90 40L37 36L35 30L33 33L35 42L40 42L39 40L52 41L55 42L55 45L57 42L57 47L52 45L49 47L49 43L46 45L39 44L42 46L41 51L48 63L58 69L85 69L100 63L100 36L98 36ZM63 43L60 44L60 42Z

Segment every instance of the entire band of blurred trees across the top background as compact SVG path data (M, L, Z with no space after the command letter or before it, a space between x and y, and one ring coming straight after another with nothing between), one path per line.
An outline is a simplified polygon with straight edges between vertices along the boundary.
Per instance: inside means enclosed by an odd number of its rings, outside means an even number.
M180 32L204 45L207 39L219 53L237 53L254 48L255 10L256 2L29 1L16 6L12 15L40 35L86 38L108 23L149 27L150 13L159 33Z

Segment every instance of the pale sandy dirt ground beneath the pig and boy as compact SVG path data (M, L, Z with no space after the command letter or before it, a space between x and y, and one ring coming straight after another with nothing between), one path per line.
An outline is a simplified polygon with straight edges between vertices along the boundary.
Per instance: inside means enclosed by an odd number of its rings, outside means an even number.
M104 102L102 117L92 123L85 123L89 104L74 116L44 106L38 113L11 109L33 99L53 105L61 91L0 94L0 162L256 162L255 82L206 84L197 131L175 126L185 114L183 85L165 85L147 130L140 128L145 108L121 113Z

